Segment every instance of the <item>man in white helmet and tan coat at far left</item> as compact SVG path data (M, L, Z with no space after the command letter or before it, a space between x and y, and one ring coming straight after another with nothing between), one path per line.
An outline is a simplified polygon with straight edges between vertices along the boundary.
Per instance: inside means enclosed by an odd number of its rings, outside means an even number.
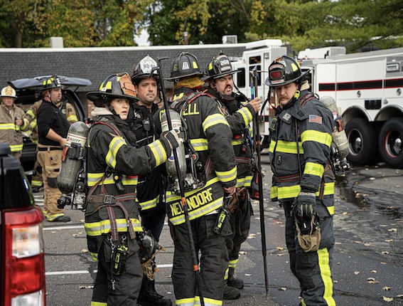
M28 122L23 120L23 110L14 105L16 90L10 85L1 90L0 105L0 142L10 145L11 154L19 161L23 149L23 135L21 131L28 130Z

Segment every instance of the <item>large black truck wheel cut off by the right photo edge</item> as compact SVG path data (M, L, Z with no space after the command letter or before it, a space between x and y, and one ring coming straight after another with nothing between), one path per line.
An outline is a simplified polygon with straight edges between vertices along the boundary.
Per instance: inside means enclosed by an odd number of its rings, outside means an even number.
M380 156L395 168L403 167L403 119L387 120L380 130Z

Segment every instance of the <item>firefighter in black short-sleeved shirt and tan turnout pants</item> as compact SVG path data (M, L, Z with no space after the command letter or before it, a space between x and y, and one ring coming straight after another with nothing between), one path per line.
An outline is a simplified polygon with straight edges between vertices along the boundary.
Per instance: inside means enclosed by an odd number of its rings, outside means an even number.
M70 221L64 209L58 208L61 192L57 178L62 162L62 148L65 145L68 128L65 115L56 106L62 100L62 84L57 76L43 80L42 104L38 109L38 153L36 159L42 167L44 189L43 213L50 222Z

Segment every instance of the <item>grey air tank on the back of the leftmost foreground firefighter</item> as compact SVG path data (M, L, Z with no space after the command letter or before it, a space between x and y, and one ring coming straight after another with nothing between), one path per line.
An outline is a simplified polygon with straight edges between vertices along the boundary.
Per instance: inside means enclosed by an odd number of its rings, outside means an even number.
M82 159L85 157L85 142L87 141L89 128L78 121L68 129L68 137L63 147L62 165L58 175L58 189L62 194L71 194L77 180L77 175L82 169Z

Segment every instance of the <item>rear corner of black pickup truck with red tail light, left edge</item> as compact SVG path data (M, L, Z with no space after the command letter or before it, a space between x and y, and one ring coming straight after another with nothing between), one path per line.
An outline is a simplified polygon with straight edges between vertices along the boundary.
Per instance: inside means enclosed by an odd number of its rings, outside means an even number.
M46 305L43 214L8 144L0 144L0 305Z

